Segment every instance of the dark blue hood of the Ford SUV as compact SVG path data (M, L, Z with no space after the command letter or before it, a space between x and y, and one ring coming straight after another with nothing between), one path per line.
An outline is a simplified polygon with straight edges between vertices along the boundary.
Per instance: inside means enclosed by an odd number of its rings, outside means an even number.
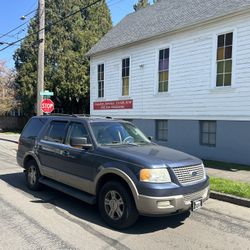
M100 147L99 153L110 158L137 164L143 167L181 167L189 165L198 165L202 161L189 154L159 146L156 144L147 145L121 145Z

